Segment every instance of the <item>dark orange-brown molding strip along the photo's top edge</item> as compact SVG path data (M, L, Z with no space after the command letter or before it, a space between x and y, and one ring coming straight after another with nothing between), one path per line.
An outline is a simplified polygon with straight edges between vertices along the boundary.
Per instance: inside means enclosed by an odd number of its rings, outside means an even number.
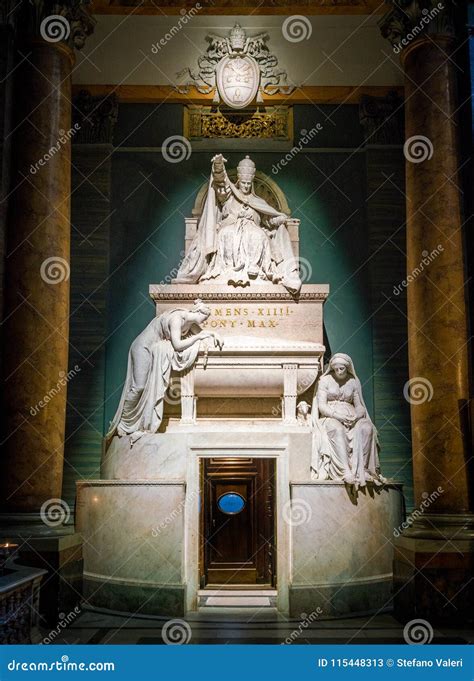
M380 0L201 0L199 14L340 15L380 14ZM256 6L258 5L258 6ZM94 0L94 14L174 15L196 7L194 0Z

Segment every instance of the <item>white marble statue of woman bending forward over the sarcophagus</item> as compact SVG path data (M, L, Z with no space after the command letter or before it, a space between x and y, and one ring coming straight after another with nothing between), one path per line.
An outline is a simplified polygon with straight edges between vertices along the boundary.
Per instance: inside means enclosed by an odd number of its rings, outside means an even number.
M211 314L201 300L191 310L175 308L155 317L135 338L128 353L125 384L117 412L106 435L130 436L133 444L145 433L156 433L163 418L163 401L171 370L186 371L197 359L200 341L215 333L203 331L200 324Z

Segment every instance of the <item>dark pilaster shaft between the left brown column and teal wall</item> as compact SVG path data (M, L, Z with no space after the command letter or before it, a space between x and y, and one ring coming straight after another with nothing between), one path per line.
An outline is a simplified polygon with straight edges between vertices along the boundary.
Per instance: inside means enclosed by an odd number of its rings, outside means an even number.
M75 482L100 477L111 217L111 144L72 151L71 307L63 497Z

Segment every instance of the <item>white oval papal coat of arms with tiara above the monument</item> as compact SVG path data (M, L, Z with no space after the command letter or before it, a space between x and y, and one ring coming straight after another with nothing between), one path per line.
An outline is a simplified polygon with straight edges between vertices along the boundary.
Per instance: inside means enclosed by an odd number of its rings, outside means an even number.
M233 109L243 109L255 99L261 103L262 93L289 94L294 85L288 84L286 71L278 68L278 59L268 48L269 36L259 33L247 36L236 24L228 37L208 35L209 42L204 55L198 59L198 68L187 67L178 76L188 80L178 86L180 92L188 92L194 86L198 92L214 92L214 102L221 100Z

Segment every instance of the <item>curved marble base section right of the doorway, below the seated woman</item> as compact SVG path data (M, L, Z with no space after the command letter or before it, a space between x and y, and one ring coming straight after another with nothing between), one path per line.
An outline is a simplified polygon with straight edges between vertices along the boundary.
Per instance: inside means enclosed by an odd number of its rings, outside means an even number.
M343 483L291 485L290 615L347 617L390 609L394 529L403 520L399 485L356 496ZM319 612L319 611L318 611Z

